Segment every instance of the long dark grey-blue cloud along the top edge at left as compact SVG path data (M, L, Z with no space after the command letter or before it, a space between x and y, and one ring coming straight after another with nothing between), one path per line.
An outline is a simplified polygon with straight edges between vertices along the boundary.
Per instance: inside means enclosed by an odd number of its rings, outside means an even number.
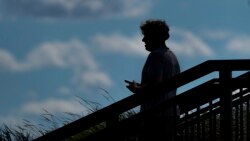
M149 10L151 0L0 0L4 18L134 17Z

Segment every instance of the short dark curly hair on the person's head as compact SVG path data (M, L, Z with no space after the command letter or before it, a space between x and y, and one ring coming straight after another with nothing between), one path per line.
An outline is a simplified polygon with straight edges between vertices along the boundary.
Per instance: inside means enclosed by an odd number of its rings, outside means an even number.
M169 27L164 20L146 20L140 25L142 34L151 34L158 38L167 40L169 38Z

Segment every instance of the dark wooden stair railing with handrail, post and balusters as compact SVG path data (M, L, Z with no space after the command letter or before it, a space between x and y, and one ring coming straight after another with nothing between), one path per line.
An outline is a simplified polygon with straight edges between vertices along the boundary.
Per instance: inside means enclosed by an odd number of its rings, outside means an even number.
M209 60L170 78L154 89L178 89L213 72L218 72L218 78L194 86L154 109L121 120L122 114L157 96L134 94L38 137L35 141L61 141L69 138L81 138L78 140L82 141L136 141L143 116L173 105L179 105L181 110L176 125L178 140L249 141L249 73L232 77L233 71L249 70L250 60ZM97 127L97 132L88 132Z

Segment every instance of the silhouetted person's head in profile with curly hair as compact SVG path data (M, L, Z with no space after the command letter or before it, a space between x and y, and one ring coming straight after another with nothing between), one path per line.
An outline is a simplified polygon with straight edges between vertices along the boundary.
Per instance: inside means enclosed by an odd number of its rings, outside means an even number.
M148 51L165 44L169 38L169 27L164 20L146 20L141 24L140 29L144 35L142 41Z

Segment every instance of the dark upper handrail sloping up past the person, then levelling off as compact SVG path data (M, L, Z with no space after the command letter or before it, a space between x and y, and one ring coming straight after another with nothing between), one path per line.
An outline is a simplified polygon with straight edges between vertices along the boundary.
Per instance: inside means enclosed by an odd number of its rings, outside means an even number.
M210 74L211 72L223 70L250 70L250 59L208 60L186 71L183 71L175 77L170 78L166 82L161 83L159 86L157 86L156 89L171 91L196 79L199 79L207 74ZM35 139L35 141L62 140L67 137L73 136L103 121L107 121L113 116L119 115L129 109L139 106L143 102L143 100L145 100L144 97L145 95L143 95L142 93L128 96L94 113L91 113L83 118L73 121L72 123L51 131L44 136L38 137L37 139Z

